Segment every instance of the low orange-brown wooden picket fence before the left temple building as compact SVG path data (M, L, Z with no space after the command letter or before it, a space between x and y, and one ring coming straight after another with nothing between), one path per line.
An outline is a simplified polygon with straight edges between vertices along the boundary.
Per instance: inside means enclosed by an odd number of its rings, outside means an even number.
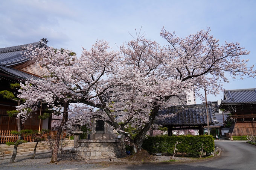
M10 133L11 131L0 131L0 143L6 143L6 142L15 142L18 138L18 135L14 135ZM48 136L51 138L55 138L57 135L57 131L50 131ZM47 138L47 134L44 134L44 137ZM66 132L63 132L62 138L64 139L66 137ZM31 142L34 141L31 137L31 135L23 135L23 140Z

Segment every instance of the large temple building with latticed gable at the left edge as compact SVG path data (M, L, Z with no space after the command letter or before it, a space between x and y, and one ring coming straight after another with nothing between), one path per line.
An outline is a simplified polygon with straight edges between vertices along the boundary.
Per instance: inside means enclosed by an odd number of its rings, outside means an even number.
M30 43L35 47L46 47L47 40L41 39L38 42ZM17 93L17 90L10 88L12 83L24 82L28 79L40 79L43 75L46 75L46 68L42 68L34 60L30 60L29 57L24 56L24 48L29 44L17 45L14 47L0 48L0 91L8 90L13 93ZM0 95L0 131L17 130L17 119L15 116L9 117L7 111L15 110L17 103L3 98ZM42 108L43 113L45 107ZM40 107L37 114L32 114L32 117L26 120L22 125L22 129L38 129L39 125L41 129L50 129L51 117L41 120L38 118L40 114ZM40 123L41 121L41 123Z

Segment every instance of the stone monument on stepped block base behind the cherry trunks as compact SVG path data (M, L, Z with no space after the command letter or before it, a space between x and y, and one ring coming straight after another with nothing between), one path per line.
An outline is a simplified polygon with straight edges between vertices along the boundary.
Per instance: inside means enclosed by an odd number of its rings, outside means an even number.
M117 134L113 133L113 128L98 118L93 119L92 133L88 135L88 139L77 140L76 153L78 157L87 159L117 158L126 155L125 145ZM80 159L78 157L76 159Z

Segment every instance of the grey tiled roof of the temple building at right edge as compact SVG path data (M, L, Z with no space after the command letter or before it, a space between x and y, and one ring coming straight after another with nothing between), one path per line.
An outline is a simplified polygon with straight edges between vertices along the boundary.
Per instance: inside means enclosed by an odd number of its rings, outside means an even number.
M225 90L222 104L255 104L256 89Z

